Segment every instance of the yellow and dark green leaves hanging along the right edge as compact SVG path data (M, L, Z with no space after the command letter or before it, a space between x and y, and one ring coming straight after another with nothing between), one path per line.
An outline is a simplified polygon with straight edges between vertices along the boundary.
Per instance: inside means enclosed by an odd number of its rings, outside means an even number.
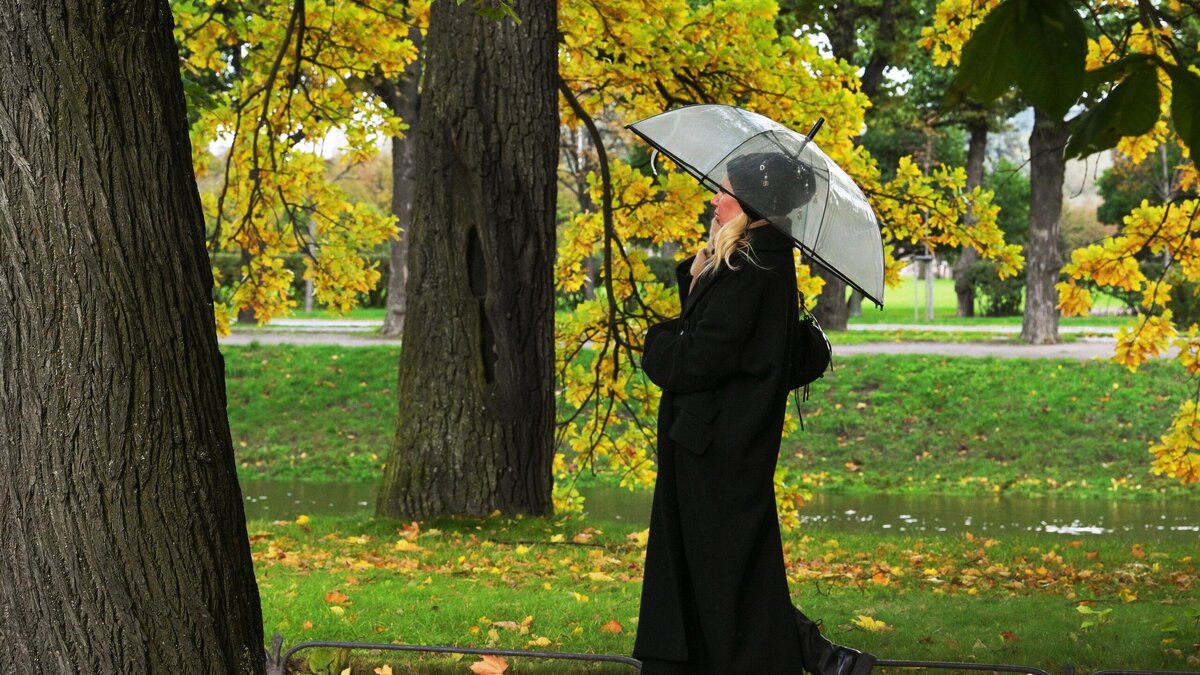
M1014 10L1025 8L1024 1L944 0L923 44L932 49L941 62L958 62L972 31L982 25L990 11L1006 10L1007 16L1012 16ZM1066 0L1052 4L1068 6ZM1194 38L1188 36L1186 28L1187 10L1178 2L1169 2L1156 7L1151 16L1145 4L1134 0L1097 0L1069 4L1069 7L1078 7L1088 22L1099 16L1109 19L1105 24L1097 20L1096 25L1086 26L1086 59L1079 64L1085 71L1079 78L1085 110L1074 118L1068 155L1115 145L1118 153L1136 163L1160 145L1172 144L1183 157L1174 167L1180 175L1181 192L1194 193L1198 174L1190 153L1200 141L1200 126L1194 119L1195 107L1200 104L1200 70L1195 65ZM1078 19L1078 23L1080 30L1085 30L1085 22ZM996 31L991 31L989 38L995 35ZM1003 66L991 67L1003 70ZM1070 66L1056 64L1055 67ZM1021 86L1031 95L1025 84ZM1124 216L1115 235L1075 250L1062 269L1057 288L1058 307L1064 316L1086 315L1092 306L1092 288L1141 295L1141 311L1121 329L1114 354L1115 362L1130 370L1174 350L1187 377L1196 381L1200 375L1200 327L1195 322L1177 322L1178 307L1171 299L1172 286L1200 283L1196 210L1194 198L1162 205L1142 202ZM1151 257L1163 264L1147 274L1148 268L1141 261ZM1151 444L1154 473L1182 483L1200 482L1198 401L1200 388L1180 404L1170 428Z

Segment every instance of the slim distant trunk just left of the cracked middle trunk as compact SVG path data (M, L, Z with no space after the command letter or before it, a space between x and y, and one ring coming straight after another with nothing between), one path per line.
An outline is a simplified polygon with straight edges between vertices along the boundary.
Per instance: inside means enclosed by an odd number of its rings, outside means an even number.
M413 28L408 38L421 49L421 31ZM400 336L404 330L404 313L408 311L408 231L412 227L413 195L416 187L416 143L413 137L420 120L421 59L404 68L398 82L389 83L384 102L408 125L403 138L391 139L391 213L400 222L400 234L391 243L391 271L388 275L388 312L383 330L389 338Z

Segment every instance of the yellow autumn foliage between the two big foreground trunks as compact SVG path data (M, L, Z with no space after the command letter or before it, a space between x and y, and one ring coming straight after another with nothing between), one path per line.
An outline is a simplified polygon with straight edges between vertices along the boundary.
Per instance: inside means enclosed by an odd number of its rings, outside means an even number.
M283 261L296 252L307 256L317 300L349 310L378 283L366 253L396 237L396 217L348 198L324 171L320 145L338 132L353 165L404 135L404 98L388 83L412 71L428 1L172 6L196 110L197 175L210 144L229 145L220 185L202 195L209 253L244 261L236 277L216 280L218 330L228 333L234 316L269 322L289 312L296 299ZM392 167L403 171L403 161Z

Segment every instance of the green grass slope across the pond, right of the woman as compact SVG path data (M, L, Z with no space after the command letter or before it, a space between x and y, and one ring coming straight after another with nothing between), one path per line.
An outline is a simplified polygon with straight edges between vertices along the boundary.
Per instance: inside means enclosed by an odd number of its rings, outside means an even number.
M1178 491L1147 443L1187 395L1169 363L850 357L812 384L782 461L826 490Z

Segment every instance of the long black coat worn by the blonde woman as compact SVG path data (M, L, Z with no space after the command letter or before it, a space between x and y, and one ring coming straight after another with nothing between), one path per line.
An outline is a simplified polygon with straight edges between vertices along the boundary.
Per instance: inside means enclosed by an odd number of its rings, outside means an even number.
M662 388L634 646L647 674L800 673L774 497L796 265L773 227L749 237L755 262L736 253L690 294L680 263L680 317L646 336Z

